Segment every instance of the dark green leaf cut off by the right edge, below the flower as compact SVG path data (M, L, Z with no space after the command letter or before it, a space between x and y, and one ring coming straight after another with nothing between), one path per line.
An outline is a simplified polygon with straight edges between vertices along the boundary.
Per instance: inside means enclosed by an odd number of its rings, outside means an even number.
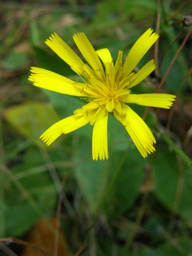
M155 194L169 210L192 224L191 170L179 164L174 152L158 146L154 157Z

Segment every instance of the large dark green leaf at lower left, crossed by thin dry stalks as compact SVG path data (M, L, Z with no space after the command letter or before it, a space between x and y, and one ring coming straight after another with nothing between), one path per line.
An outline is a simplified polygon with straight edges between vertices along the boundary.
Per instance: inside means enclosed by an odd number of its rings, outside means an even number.
M33 175L27 173L27 170L35 166L38 167L42 161L41 154L34 147L34 151L25 152L22 162L10 167L10 172L14 175L17 183L11 182L9 187L5 188L6 236L22 235L39 217L49 216L54 210L57 192L48 171ZM22 172L25 174L21 177ZM20 190L17 184L22 186L23 190ZM24 189L26 193L24 193Z

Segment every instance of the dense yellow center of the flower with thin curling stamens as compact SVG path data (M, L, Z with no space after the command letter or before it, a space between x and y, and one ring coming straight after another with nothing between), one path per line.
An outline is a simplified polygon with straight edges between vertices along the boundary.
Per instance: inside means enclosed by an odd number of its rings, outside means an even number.
M86 66L88 67L88 66ZM104 106L107 112L113 112L114 109L121 109L121 105L125 103L130 94L128 90L131 81L135 78L136 74L131 73L129 76L124 76L122 67L115 69L113 62L105 63L105 72L95 70L89 72L86 91L89 101L93 101L99 106Z

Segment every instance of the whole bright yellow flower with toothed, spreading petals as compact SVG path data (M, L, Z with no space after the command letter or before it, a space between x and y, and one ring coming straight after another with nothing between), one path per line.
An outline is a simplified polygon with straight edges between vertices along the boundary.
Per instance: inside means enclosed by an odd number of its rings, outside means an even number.
M155 70L154 60L148 61L137 73L133 70L143 55L158 39L158 35L148 29L135 42L123 63L120 50L114 63L108 49L95 51L84 33L73 36L75 44L88 63L79 56L56 33L47 39L46 44L82 79L72 81L54 72L31 68L29 80L34 86L58 93L84 97L89 101L74 115L58 121L45 131L40 138L50 145L62 133L68 134L83 125L93 125L93 160L108 159L108 113L113 112L129 133L143 157L155 151L156 140L145 122L126 103L155 106L169 109L175 95L171 94L131 94L130 89ZM49 113L48 113L49 114Z

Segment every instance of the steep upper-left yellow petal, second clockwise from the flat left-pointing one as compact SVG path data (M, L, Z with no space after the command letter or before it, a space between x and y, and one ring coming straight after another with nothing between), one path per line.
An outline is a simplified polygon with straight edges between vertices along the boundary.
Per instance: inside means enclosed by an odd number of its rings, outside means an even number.
M83 57L88 61L94 71L103 72L101 62L87 36L84 33L77 33L73 36L75 44Z

